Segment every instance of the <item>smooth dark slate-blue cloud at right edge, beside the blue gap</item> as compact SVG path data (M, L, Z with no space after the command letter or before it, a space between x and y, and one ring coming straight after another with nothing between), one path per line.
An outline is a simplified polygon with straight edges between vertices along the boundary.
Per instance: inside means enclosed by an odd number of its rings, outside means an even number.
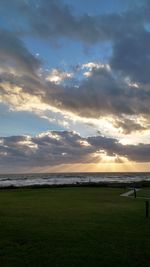
M110 64L133 81L150 83L150 32L139 31L116 41Z

